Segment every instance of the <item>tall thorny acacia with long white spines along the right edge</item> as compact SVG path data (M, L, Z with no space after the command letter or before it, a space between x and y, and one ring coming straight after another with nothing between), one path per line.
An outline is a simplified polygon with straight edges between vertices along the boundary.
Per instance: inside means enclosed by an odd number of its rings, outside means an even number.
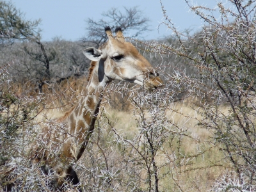
M162 24L173 30L179 45L155 47L162 54L180 56L198 71L179 81L189 97L201 98L198 125L211 132L210 141L223 151L228 175L237 174L237 180L229 176L229 182L218 180L214 190L255 189L256 1L230 0L216 8L186 3L204 21L202 30L193 36L180 33L162 4Z

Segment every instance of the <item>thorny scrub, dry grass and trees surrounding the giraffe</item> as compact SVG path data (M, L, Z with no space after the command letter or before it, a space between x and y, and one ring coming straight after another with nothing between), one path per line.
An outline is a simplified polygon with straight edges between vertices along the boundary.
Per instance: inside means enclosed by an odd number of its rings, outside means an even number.
M195 34L178 31L162 4L171 36L126 38L165 84L154 92L108 86L90 144L73 165L84 191L256 191L256 3L186 3L204 21ZM81 52L106 41L106 22L88 19L91 39L42 42L40 20L24 20L4 1L0 7L0 189L49 191L54 170L42 173L26 151L40 142L40 125L55 124L83 94L90 63ZM127 8L103 16L141 33L148 29L141 14Z

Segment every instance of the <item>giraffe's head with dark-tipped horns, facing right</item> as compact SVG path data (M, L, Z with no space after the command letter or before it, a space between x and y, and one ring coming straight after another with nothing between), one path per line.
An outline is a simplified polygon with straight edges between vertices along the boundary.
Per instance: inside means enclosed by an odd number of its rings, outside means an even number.
M113 36L109 27L105 28L108 42L99 49L84 49L84 55L92 61L99 61L100 79L118 79L143 85L146 89L157 88L163 84L157 71L138 52L130 42L125 42L122 30L116 28ZM103 77L104 76L104 77Z

